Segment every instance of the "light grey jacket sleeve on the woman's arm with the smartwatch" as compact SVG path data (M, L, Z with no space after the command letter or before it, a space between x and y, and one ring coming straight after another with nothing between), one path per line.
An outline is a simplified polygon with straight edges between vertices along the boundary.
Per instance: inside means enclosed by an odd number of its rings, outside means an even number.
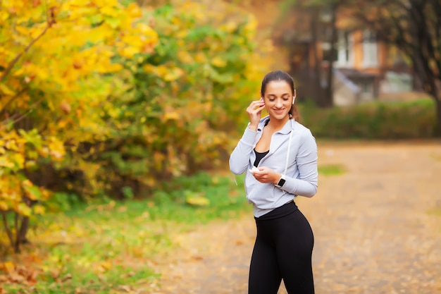
M299 178L287 177L283 190L305 197L316 195L318 187L317 159L316 139L311 134L311 131L306 129L302 133L296 157Z

